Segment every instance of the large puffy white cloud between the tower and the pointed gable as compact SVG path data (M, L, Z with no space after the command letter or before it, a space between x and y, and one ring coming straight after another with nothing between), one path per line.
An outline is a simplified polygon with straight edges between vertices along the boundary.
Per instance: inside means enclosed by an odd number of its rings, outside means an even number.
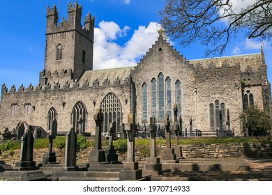
M139 26L124 45L118 45L118 38L127 36L126 33L130 29L128 26L121 29L115 22L105 21L100 22L98 26L94 31L94 70L136 65L138 58L148 52L157 40L160 28L156 22L150 22L147 27Z

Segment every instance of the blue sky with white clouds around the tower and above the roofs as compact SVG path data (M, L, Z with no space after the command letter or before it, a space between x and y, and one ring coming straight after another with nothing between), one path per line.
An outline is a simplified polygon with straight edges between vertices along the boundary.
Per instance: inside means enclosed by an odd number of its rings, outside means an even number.
M16 88L30 83L36 86L44 65L46 8L56 4L59 21L62 17L67 20L68 1L0 0L0 3L0 84L5 83L8 89L13 84ZM157 40L158 11L163 9L164 1L79 0L78 3L82 5L82 20L89 12L96 17L94 69L136 65ZM178 41L169 41L188 60L204 56L204 47L198 43L181 47ZM223 56L258 52L259 43L241 35L232 40ZM272 81L271 52L271 43L265 43L269 81Z

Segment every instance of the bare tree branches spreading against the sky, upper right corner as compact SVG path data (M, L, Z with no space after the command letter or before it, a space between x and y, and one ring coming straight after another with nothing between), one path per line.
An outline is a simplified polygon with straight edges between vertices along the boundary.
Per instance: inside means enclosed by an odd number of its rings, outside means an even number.
M222 55L241 31L248 38L270 41L272 0L165 0L160 24L165 33L186 46L199 40L206 56Z

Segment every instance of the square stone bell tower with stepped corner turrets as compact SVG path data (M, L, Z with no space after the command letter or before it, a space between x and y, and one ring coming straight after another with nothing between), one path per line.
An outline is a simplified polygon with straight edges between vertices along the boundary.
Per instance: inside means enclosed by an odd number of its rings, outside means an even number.
M80 79L93 69L94 17L89 13L81 24L82 6L68 3L68 20L58 24L56 6L47 7L45 35L45 68L40 84L64 83Z

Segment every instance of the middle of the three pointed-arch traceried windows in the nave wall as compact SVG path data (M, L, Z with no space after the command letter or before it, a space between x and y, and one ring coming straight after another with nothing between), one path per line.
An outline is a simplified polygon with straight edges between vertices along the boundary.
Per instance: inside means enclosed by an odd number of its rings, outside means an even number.
M77 102L72 111L72 124L74 130L85 132L86 128L86 107L82 102Z

